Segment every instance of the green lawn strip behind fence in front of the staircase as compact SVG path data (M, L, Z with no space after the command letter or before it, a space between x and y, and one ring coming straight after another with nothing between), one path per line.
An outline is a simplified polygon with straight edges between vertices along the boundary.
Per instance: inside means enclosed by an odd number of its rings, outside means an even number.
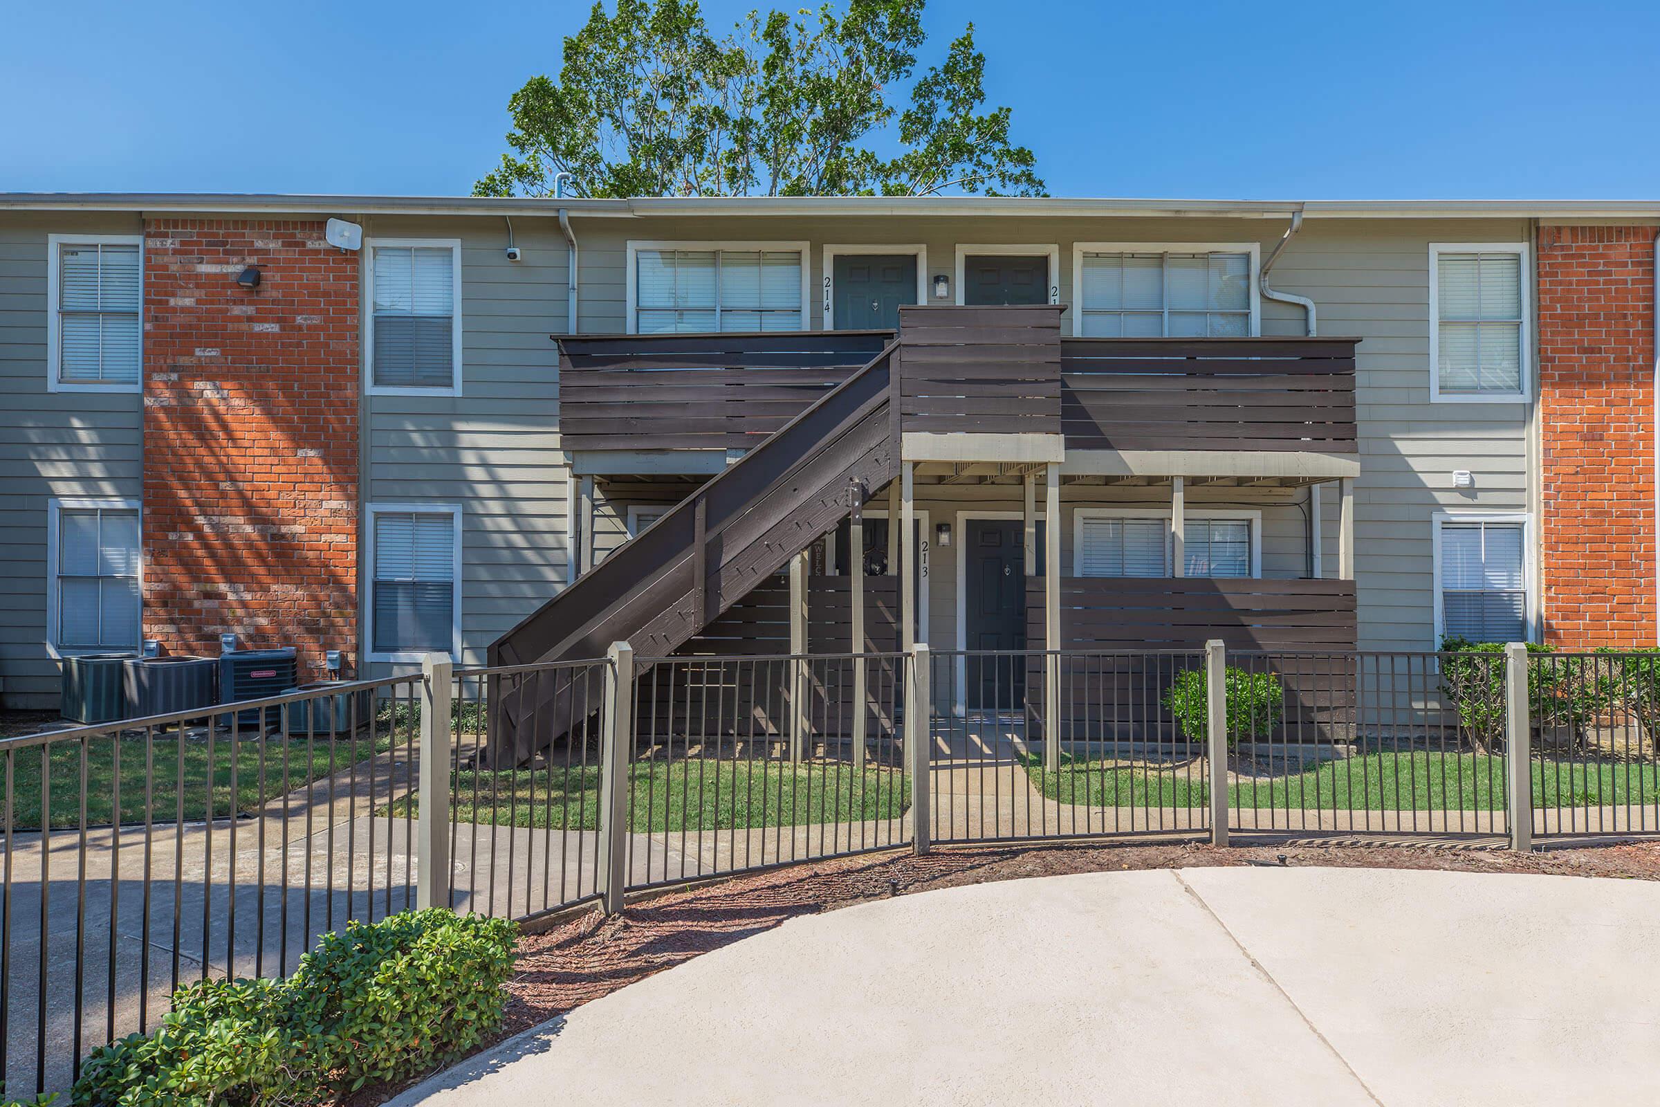
M475 798L476 788L476 798ZM910 778L896 768L782 762L634 763L629 830L729 830L898 818ZM463 823L599 828L599 770L461 772L453 792ZM403 813L405 802L393 805Z

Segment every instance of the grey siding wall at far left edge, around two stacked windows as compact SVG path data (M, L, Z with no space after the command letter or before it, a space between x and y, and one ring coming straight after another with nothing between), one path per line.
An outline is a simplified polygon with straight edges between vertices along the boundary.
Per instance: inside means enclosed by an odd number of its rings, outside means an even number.
M46 392L46 236L138 234L136 216L0 212L0 704L48 707L46 501L138 500L139 397Z

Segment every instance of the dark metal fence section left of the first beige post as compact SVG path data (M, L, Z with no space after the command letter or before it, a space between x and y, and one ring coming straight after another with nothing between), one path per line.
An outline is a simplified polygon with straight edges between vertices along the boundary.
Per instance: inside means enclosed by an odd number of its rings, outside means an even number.
M422 679L0 739L0 1079L63 1089L171 992L412 905Z

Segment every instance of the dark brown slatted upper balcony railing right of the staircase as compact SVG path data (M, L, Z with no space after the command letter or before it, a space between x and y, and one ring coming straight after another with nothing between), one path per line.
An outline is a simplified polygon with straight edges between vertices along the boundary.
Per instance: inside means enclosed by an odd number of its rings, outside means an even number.
M1353 339L1062 339L1076 450L1356 451Z

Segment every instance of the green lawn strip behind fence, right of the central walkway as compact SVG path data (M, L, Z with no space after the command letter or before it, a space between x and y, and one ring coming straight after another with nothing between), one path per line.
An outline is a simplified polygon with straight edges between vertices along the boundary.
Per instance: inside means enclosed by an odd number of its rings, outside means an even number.
M1204 807L1210 788L1185 770L1125 768L1062 757L1026 772L1042 795L1086 807ZM1536 762L1534 807L1597 807L1660 802L1653 763ZM1484 753L1379 752L1260 775L1230 787L1233 807L1371 812L1496 812L1504 808L1504 762Z

